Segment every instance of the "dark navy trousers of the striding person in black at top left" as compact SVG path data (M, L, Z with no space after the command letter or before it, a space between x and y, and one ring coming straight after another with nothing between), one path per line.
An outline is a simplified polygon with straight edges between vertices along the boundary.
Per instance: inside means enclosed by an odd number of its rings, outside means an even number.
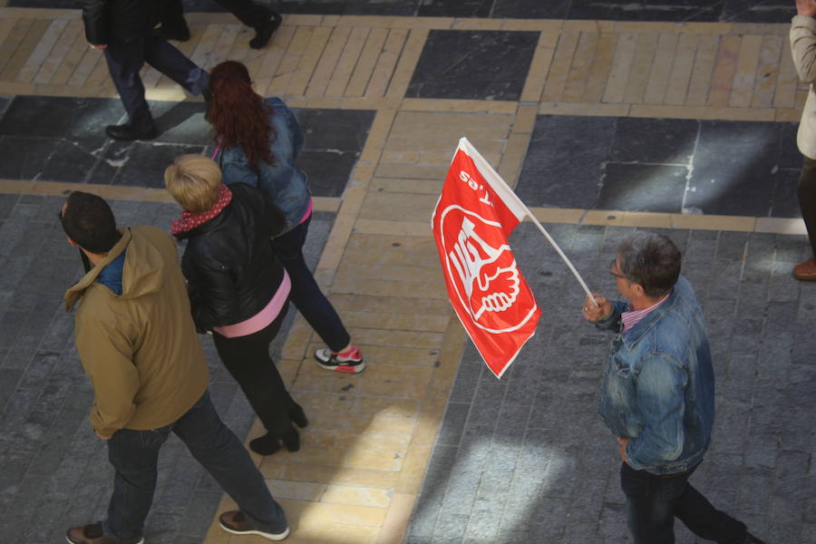
M111 79L128 112L128 127L135 131L149 131L153 127L151 110L144 99L144 85L139 75L144 63L150 64L192 94L201 94L209 85L209 74L205 70L152 32L131 42L112 41L104 53Z

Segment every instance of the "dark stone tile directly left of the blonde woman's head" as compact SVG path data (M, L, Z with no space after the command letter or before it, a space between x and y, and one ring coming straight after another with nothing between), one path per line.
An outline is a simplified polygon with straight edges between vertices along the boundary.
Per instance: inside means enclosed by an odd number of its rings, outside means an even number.
M179 155L200 154L202 146L183 144L155 145L137 141L128 152L128 160L112 180L112 185L164 187L164 170Z

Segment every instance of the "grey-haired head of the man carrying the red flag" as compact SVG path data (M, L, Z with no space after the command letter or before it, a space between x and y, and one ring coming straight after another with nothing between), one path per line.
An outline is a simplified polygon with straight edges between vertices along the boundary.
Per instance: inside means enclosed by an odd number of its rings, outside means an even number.
M643 287L646 296L664 296L680 276L680 250L670 238L637 231L617 246L617 262L629 281Z

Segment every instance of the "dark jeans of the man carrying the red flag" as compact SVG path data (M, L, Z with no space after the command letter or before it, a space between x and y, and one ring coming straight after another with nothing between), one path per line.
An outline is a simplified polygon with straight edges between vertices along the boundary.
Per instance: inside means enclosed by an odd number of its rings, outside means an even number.
M745 524L715 509L688 483L695 470L657 476L621 463L620 487L627 496L627 521L635 544L674 544L675 518L700 538L743 544Z

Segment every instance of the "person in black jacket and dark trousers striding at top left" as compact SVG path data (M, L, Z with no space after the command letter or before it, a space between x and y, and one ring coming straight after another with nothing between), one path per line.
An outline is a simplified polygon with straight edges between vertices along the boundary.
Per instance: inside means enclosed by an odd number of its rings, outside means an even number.
M84 0L85 39L101 49L111 79L128 112L128 121L109 125L115 140L151 140L159 131L144 99L139 71L149 63L188 92L207 92L209 76L167 40L154 32L159 17L157 0Z

